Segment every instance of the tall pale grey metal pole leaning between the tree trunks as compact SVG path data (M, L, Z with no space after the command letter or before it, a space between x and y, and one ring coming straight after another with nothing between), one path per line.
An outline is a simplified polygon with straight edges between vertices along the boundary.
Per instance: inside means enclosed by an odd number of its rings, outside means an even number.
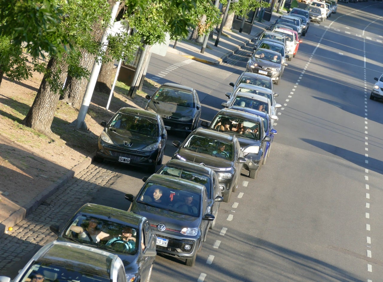
M113 26L115 22L119 4L120 4L120 1L117 1L115 5L113 5L112 7L109 26ZM108 47L108 28L105 29L105 32L103 36L101 37L101 51L105 52L107 47ZM96 86L98 74L100 73L101 59L102 59L101 56L98 56L93 64L92 72L90 73L89 82L87 85L87 89L85 90L84 98L82 99L82 104L80 107L79 114L77 116L77 119L70 123L70 125L77 127L78 129L88 130L88 126L85 123L85 116L87 115L90 100L92 99L93 91Z

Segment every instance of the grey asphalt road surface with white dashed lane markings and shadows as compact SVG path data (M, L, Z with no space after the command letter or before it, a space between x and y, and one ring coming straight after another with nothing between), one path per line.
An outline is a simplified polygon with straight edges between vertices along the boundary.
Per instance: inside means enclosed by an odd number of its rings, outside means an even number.
M369 99L383 72L381 2L339 3L338 12L311 23L298 54L275 85L278 130L258 178L241 176L231 202L221 204L216 227L195 267L157 256L151 281L381 281L383 101ZM246 55L213 67L186 62L158 82L196 88L208 120L226 101ZM147 77L187 59L153 55ZM169 136L164 162L175 148ZM83 201L127 209L146 172L95 163L65 192L2 237L1 274L13 277L35 249L52 240L47 229ZM5 239L3 239L5 238ZM12 276L13 275L13 276Z

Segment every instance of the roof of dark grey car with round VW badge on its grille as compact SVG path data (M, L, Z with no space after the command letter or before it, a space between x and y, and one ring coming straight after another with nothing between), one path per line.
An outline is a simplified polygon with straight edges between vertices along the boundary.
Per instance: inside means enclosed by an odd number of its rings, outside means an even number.
M174 187L184 191L201 194L203 189L206 189L202 184L192 182L186 179L154 173L147 179L146 183L155 183L161 186ZM146 185L146 183L144 185Z

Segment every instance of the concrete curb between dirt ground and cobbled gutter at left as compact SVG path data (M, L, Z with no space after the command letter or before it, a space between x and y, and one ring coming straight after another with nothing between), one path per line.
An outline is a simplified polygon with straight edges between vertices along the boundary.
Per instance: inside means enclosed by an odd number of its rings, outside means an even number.
M52 196L59 188L64 186L70 179L74 178L75 175L80 173L80 171L87 168L90 163L92 163L93 158L95 157L96 152L92 153L85 160L83 160L78 165L75 165L71 170L62 176L59 180L55 181L53 184L49 185L43 192L36 195L25 207L20 207L18 210L13 212L6 220L0 223L0 234L8 232L9 227L15 226L34 210L36 210L39 205L41 205L48 197Z

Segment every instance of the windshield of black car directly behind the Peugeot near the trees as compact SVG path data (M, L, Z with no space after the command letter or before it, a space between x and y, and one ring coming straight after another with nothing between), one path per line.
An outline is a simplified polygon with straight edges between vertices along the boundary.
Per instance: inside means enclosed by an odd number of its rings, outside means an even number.
M194 99L191 92L174 88L161 87L153 96L153 100L176 104L187 108L194 108Z

